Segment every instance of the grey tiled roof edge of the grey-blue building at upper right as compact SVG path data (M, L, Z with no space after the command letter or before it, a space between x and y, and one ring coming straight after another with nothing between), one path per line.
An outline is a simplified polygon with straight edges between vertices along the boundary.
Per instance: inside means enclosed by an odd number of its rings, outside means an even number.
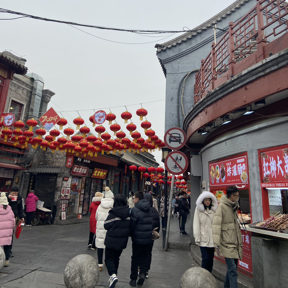
M225 18L227 15L235 11L237 8L239 8L241 5L245 4L250 0L237 0L231 5L229 5L227 8L210 18L209 20L205 21L204 23L198 25L195 27L193 32L187 32L184 33L174 39L171 39L163 44L156 44L155 48L157 48L157 52L161 52L161 50L165 50L166 48L171 48L172 46L175 46L179 43L182 43L183 41L186 41L187 39L190 39L192 36L197 35L198 33L202 32L203 30L206 30L207 28L211 27L213 24L217 23L221 19ZM194 31L197 32L194 32ZM165 72L164 72L165 73Z

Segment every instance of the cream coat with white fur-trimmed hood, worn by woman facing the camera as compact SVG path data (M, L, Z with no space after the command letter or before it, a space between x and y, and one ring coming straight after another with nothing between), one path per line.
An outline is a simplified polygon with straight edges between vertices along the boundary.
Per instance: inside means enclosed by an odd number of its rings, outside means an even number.
M211 210L204 209L202 202L205 198L211 198ZM196 201L196 209L193 220L193 236L196 244L199 246L214 247L212 223L217 206L218 203L216 197L208 191L203 191Z

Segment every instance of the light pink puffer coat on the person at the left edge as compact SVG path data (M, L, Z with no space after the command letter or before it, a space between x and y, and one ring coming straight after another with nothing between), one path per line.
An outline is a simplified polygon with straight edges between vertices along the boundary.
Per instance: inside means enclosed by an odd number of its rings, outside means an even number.
M7 205L4 209L0 205L0 246L11 245L14 228L15 218L11 207Z

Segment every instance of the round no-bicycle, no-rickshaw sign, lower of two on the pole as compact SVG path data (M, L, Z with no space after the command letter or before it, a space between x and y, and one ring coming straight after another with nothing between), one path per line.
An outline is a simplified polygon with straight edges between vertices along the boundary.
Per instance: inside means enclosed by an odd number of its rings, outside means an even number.
M180 175L187 170L187 156L180 151L172 151L165 158L165 168L172 175Z

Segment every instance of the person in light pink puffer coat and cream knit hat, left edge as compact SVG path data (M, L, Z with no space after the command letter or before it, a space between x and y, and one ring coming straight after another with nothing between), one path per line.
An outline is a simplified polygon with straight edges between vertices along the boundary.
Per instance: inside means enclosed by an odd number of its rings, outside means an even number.
M9 265L10 245L12 242L14 227L14 213L8 205L6 194L2 192L0 196L0 246L3 245L5 253L4 267Z

